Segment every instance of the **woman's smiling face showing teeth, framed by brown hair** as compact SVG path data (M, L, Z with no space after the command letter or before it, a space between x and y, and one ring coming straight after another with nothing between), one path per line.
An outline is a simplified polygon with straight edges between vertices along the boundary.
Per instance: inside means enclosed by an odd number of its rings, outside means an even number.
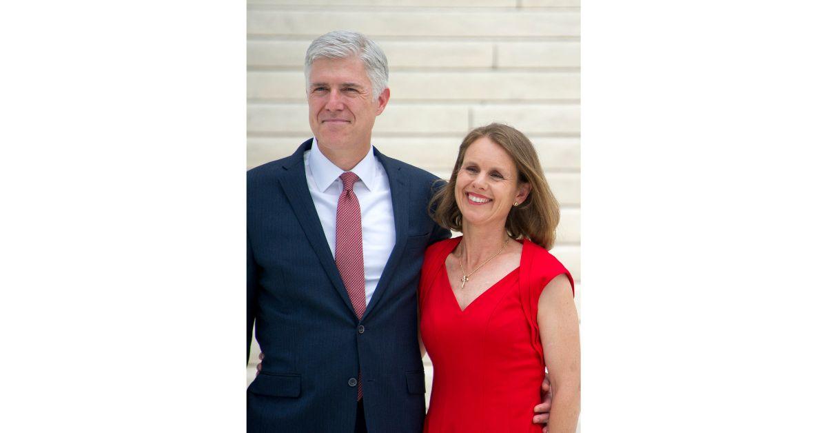
M472 142L454 189L463 227L504 227L514 201L522 203L530 190L518 177L517 166L499 144L489 137Z

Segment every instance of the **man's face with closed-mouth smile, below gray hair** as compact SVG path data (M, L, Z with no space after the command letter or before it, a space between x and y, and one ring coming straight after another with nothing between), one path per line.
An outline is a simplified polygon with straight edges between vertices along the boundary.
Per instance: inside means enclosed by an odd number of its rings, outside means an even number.
M389 96L385 89L378 100L373 99L365 66L356 57L313 61L308 108L310 129L319 147L347 151L369 146L373 123Z

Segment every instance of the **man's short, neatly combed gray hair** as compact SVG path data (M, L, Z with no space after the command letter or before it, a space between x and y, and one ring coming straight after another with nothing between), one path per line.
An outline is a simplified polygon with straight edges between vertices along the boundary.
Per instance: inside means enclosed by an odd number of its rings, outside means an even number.
M365 65L367 78L370 79L370 87L373 88L373 99L378 99L379 94L388 88L388 59L374 41L370 41L361 33L331 31L318 36L315 41L311 42L307 54L304 55L305 86L310 84L310 66L320 57L326 59L357 57L361 60L362 65Z

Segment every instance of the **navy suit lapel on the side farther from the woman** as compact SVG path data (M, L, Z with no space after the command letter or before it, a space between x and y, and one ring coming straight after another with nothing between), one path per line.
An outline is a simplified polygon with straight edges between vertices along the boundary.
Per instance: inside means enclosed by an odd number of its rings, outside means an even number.
M353 315L356 315L351 304L351 298L347 295L345 283L342 282L339 269L336 267L336 262L330 252L330 247L327 246L327 238L324 236L322 222L318 219L316 206L313 204L313 198L310 196L310 190L308 190L307 176L304 174L304 152L310 149L312 143L313 139L304 142L299 150L284 163L283 168L287 171L287 174L280 177L281 187L293 208L296 219L299 219L299 224L304 229L304 234L307 236L310 246L316 252L318 261L322 263L324 272L327 273L327 277L336 287L339 296L342 296L342 301L345 302L347 308L351 310Z

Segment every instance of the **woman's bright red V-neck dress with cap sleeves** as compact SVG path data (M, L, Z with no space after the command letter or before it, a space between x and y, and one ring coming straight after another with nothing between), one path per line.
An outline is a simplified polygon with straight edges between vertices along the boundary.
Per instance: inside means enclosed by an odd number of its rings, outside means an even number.
M520 241L519 267L460 310L445 269L460 239L428 248L419 281L420 330L433 361L423 431L543 431L532 423L545 376L538 300L561 273L573 288L571 274L543 247Z

